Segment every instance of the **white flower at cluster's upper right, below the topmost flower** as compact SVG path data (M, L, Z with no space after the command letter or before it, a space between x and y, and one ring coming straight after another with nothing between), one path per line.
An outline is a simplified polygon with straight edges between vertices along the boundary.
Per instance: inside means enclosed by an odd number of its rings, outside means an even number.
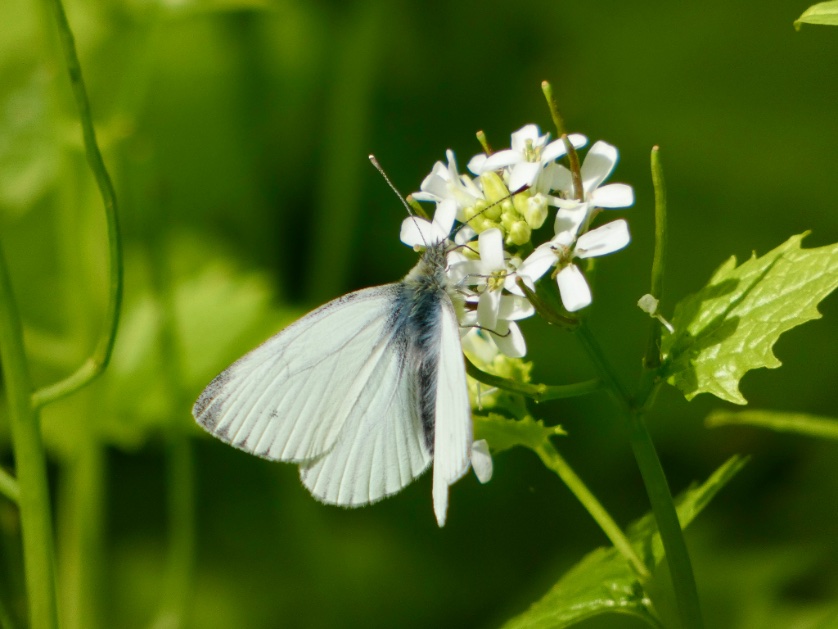
M602 140L595 143L585 156L581 167L583 201L591 208L628 207L634 203L634 191L631 186L624 183L600 185L608 178L616 164L617 149ZM565 197L564 199L553 197L552 204L564 208L571 208L578 204L573 194L573 177L570 171L556 164L551 168L550 175L552 178L549 183L550 189L560 191Z

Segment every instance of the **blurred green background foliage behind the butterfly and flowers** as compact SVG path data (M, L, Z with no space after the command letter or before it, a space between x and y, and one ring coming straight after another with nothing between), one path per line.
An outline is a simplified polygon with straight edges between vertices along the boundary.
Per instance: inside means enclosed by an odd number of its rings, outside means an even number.
M812 230L838 239L838 30L803 3L525 0L72 0L125 237L126 298L109 372L51 406L65 626L484 627L523 611L605 537L528 451L486 485L430 479L361 510L318 504L293 465L200 434L190 408L232 360L307 309L399 279L415 254L403 193L452 148L464 168L551 129L620 149L632 245L598 265L591 327L627 381L640 370L653 226L649 151L670 202L663 311L731 254ZM38 3L0 7L0 220L38 384L74 369L102 324L107 250L66 72ZM838 302L785 335L780 371L749 374L756 408L838 415ZM574 340L524 325L535 378L583 380ZM722 403L665 389L650 417L673 489L733 453L745 471L690 529L708 627L808 627L838 607L838 449L703 427ZM535 409L625 523L648 502L601 396ZM4 422L5 419L0 419ZM0 463L13 465L0 424ZM0 594L22 614L16 510L0 498ZM665 587L666 575L661 577ZM667 610L663 610L665 613ZM629 627L616 617L587 627Z

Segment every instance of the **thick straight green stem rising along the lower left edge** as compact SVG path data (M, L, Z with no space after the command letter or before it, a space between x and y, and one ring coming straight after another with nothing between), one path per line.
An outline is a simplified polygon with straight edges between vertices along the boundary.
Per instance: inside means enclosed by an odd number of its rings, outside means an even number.
M31 403L32 381L23 346L20 315L1 248L0 359L20 488L18 507L29 598L29 623L31 629L53 629L58 624L58 614L46 453L41 440L38 411Z

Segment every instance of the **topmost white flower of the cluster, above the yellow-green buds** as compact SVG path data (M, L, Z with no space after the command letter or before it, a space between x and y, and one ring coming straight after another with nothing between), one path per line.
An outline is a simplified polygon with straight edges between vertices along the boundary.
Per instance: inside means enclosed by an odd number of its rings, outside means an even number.
M528 124L512 134L512 148L489 156L475 155L469 161L468 168L479 175L509 167L509 189L512 192L523 187L538 187L541 191L543 186L536 186L539 175L548 164L567 152L563 140L554 140L548 144L549 139L549 133L540 135L538 126ZM584 135L577 133L568 136L568 139L574 148L585 146L588 142ZM550 171L552 172L552 167ZM553 175L550 178L552 179Z

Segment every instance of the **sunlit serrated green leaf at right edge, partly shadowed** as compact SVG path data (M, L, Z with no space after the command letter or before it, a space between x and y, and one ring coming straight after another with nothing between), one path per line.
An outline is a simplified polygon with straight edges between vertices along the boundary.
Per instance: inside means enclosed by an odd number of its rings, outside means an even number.
M761 258L731 257L698 293L675 307L663 339L664 375L688 400L712 393L746 404L739 381L780 366L772 348L791 328L820 318L817 304L838 287L838 245L801 249L801 234Z

